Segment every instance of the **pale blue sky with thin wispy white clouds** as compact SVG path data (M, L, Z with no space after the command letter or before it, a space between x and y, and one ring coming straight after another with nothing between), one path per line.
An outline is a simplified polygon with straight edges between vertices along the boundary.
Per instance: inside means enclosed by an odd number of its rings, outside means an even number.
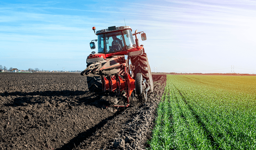
M92 27L125 24L152 72L256 73L256 0L0 0L0 65L84 70Z

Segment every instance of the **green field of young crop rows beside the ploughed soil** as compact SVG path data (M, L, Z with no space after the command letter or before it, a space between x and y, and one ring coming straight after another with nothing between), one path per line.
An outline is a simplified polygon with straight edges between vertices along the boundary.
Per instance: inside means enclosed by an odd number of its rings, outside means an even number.
M256 76L167 75L152 150L255 150Z

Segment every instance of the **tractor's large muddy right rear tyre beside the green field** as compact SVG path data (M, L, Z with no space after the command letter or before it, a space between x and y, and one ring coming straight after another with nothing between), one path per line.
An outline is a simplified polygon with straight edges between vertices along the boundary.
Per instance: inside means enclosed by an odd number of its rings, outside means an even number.
M134 66L133 74L137 75L137 73L141 73L142 77L146 79L146 82L149 84L148 93L153 92L153 79L151 75L151 69L148 63L148 57L146 53L143 53L140 56L130 57L132 65ZM137 89L136 89L137 90Z

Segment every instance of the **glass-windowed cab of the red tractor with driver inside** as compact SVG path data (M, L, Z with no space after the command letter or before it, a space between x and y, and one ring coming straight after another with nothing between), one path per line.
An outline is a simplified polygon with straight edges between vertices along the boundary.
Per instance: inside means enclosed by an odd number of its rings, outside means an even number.
M95 27L93 30L95 32ZM98 53L116 53L136 47L130 26L112 26L108 29L99 30L95 34L98 39L92 40L90 47L95 49L93 41L98 41Z

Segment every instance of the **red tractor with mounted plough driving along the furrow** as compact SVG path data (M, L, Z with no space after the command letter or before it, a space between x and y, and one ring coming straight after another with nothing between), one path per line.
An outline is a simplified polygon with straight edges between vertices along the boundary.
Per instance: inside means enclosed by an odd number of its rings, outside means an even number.
M95 32L98 39L92 40L91 49L98 41L98 53L95 51L87 57L87 68L81 75L87 77L88 89L91 92L112 91L119 95L125 92L126 107L134 89L139 99L147 99L147 93L153 92L153 81L148 57L143 45L139 44L137 34L142 41L146 34L135 31L130 26L112 26ZM135 36L135 42L132 36Z

